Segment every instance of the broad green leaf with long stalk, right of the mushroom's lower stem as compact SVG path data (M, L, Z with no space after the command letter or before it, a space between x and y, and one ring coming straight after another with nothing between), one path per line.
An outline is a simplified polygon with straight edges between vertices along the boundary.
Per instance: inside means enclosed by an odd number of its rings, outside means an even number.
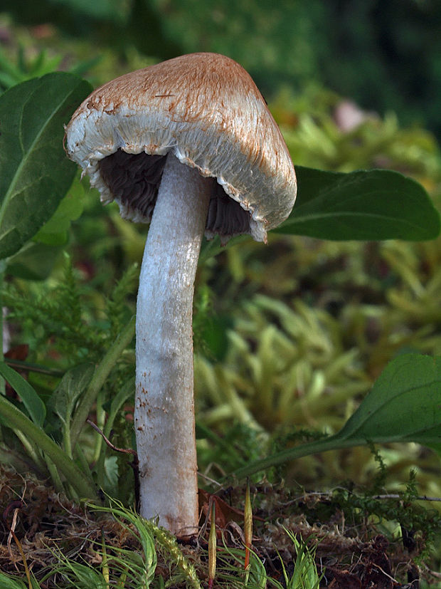
M418 442L441 447L441 356L403 354L390 362L340 432L238 469L235 476L299 457L366 442Z

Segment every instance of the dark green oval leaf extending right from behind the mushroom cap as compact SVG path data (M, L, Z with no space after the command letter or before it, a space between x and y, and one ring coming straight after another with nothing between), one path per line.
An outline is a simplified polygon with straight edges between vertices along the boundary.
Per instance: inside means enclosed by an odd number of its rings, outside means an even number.
M391 170L344 174L296 167L298 196L275 233L319 239L424 241L440 233L440 214L415 180Z

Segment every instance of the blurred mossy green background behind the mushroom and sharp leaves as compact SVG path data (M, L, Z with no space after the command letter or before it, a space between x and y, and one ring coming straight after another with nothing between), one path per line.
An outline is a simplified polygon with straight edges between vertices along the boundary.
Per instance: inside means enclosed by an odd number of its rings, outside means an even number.
M438 0L1 0L0 85L54 69L99 85L181 53L225 53L255 78L294 165L392 168L418 179L439 205L440 26ZM83 214L73 215L65 242L38 244L34 259L16 256L6 293L11 345L26 343L29 360L63 370L100 357L117 333L110 293L127 268L121 323L133 313L132 264L141 261L147 231L122 221L117 208L102 208L87 182L78 179L70 196ZM62 252L79 285L76 334L46 304L62 296ZM280 449L302 428L336 432L397 353L441 353L440 239L270 235L267 247L248 239L216 258L203 250L201 259L197 415L234 449L220 460L219 447L201 434L201 471L212 476ZM109 383L110 398L119 384ZM116 435L119 446L130 444L124 419ZM418 464L424 491L440 493L434 455L416 446L384 452L392 487ZM320 486L366 482L375 469L363 447L300 460L287 476Z

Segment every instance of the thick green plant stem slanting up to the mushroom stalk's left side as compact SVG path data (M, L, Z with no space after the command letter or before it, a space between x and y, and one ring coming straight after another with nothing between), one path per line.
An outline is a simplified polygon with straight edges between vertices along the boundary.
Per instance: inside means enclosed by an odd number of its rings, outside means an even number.
M78 409L70 426L70 440L72 449L75 448L75 444L78 442L78 436L80 435L81 429L83 429L83 425L85 424L90 410L92 409L92 405L97 398L98 392L100 392L100 388L102 385L104 385L107 377L110 374L110 371L112 368L114 368L124 349L127 348L127 345L129 345L129 343L132 341L134 336L134 325L135 318L132 317L122 332L119 333L117 340L112 345L110 350L107 351L104 358L102 358L100 364L97 365L92 380L90 381L90 385L87 387L85 394L80 399Z

